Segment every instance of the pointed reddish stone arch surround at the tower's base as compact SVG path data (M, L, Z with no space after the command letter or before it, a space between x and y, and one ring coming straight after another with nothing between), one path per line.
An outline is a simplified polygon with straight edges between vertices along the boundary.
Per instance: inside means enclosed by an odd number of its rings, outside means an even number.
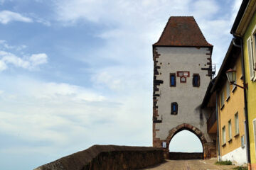
M176 126L176 128L172 128L171 130L169 130L169 135L166 138L166 149L164 149L164 156L166 157L166 159L168 159L169 157L169 144L171 142L171 139L178 132L181 132L181 130L188 130L190 132L193 132L193 134L195 134L199 138L203 145L203 159L210 159L210 157L213 157L210 153L210 150L213 148L215 149L215 145L213 145L213 143L209 143L206 141L206 137L203 135L203 132L201 132L201 130L188 123L183 123L181 125Z

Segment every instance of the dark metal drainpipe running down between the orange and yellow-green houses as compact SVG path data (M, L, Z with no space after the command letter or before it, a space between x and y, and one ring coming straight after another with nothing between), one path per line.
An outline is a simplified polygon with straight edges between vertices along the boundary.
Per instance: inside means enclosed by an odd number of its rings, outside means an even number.
M242 81L243 81L243 86L246 86L245 82L245 60L244 60L244 55L243 55L243 41L242 38L236 36L233 34L235 38L238 38L240 40L241 45L235 44L235 40L233 38L233 45L235 47L240 47L241 48L241 58L242 58ZM250 138L249 138L249 125L248 125L248 110L247 110L247 95L246 95L246 88L244 89L244 101L245 101L245 125L246 125L246 145L247 145L247 159L248 159L248 166L250 166L251 160L250 160Z

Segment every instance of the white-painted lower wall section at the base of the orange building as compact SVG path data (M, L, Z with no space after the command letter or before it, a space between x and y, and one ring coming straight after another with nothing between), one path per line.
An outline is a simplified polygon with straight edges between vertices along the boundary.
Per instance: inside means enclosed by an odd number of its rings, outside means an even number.
M233 164L241 166L247 163L246 147L238 147L237 149L225 154L221 157L222 161L231 161Z

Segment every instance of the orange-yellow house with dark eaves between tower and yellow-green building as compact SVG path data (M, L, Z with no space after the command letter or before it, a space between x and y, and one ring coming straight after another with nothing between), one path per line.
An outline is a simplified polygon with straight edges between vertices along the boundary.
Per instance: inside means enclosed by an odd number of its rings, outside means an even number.
M240 47L236 47L231 41L213 86L210 91L207 91L207 93L216 94L217 98L218 157L222 161L230 160L237 165L247 163L244 95L243 89L230 85L225 72L228 69L234 69L236 84L242 86L241 61Z

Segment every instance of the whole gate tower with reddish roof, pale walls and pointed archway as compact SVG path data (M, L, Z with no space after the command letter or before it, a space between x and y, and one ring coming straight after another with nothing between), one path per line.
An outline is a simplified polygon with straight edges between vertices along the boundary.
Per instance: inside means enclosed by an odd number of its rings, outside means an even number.
M193 132L203 145L203 157L215 152L215 137L207 133L207 113L201 110L212 78L213 45L193 16L172 16L153 45L153 147L163 147L181 130ZM184 146L186 147L186 146Z

